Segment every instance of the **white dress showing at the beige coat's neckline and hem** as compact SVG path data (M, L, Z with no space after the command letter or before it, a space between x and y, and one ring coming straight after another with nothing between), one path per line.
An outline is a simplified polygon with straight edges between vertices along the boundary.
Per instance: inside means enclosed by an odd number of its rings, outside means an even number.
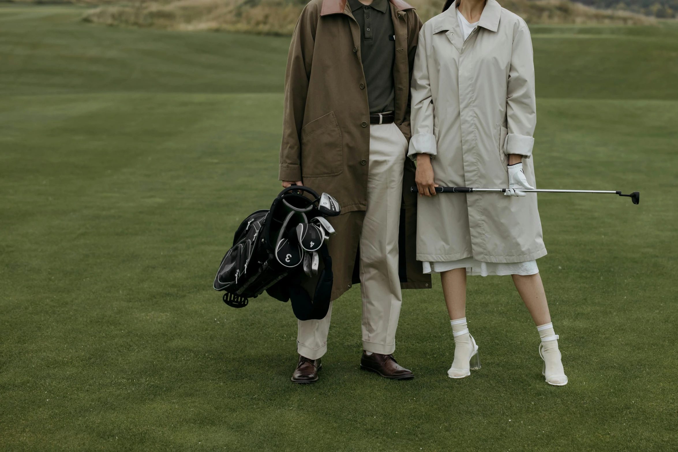
M464 41L471 35L473 29L478 25L478 22L469 23L466 18L457 9L457 20L461 25L464 33ZM528 274L536 274L539 272L537 268L537 261L530 260L527 262L481 262L473 258L463 258L459 260L452 260L448 262L422 262L424 265L424 273L440 273L447 270L454 270L455 268L466 268L466 274L469 276L487 276L490 274L520 274L526 276Z

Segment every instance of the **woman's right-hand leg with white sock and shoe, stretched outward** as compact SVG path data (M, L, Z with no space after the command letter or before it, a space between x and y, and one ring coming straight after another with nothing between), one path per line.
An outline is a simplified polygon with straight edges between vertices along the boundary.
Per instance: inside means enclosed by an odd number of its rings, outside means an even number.
M544 360L546 383L553 386L563 386L567 384L567 375L563 370L557 335L553 332L549 304L546 303L546 293L544 293L541 276L538 273L529 276L520 276L519 274L511 276L513 276L513 283L515 283L518 293L523 298L527 310L530 311L532 320L537 325L537 331L542 339L539 349Z

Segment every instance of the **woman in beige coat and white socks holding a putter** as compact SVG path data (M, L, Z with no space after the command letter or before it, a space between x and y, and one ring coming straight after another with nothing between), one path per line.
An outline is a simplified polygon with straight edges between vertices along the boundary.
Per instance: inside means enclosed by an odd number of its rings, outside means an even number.
M480 367L466 327L466 275L511 274L540 333L546 382L567 384L536 259L546 255L534 193L530 30L496 0L448 0L419 34L412 75L417 260L440 273L454 335L452 378ZM504 188L436 195L436 186Z

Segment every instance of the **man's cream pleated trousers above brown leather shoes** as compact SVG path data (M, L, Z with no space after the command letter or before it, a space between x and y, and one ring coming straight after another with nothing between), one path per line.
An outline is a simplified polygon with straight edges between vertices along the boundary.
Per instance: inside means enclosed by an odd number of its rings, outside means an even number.
M395 330L403 300L398 276L398 231L405 155L407 140L395 124L370 125L367 211L360 236L359 270L363 349L380 354L395 350ZM331 318L332 304L324 319L299 321L299 354L318 359L327 352Z

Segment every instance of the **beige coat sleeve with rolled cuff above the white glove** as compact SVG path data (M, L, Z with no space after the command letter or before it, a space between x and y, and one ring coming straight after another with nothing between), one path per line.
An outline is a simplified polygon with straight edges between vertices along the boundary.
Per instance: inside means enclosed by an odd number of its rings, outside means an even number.
M509 134L504 152L529 159L534 146L537 107L534 93L534 59L530 29L521 22L513 38L511 68L506 88L506 119Z

